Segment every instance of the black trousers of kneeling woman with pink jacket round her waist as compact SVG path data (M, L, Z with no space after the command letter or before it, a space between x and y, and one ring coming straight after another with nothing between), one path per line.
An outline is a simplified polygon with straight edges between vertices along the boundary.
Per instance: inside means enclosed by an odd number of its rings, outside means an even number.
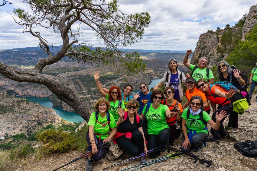
M131 140L126 138L125 135L122 135L116 138L115 141L123 150L125 150L132 156L137 156L138 154L144 153L144 138L142 133L137 129L132 131L131 133Z

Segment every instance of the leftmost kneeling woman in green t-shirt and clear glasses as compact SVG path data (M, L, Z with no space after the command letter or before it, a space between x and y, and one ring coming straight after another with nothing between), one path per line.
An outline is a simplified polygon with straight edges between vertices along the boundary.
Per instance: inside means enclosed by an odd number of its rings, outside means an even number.
M107 112L110 109L110 103L107 99L101 98L97 100L95 104L96 112L93 112L89 118L88 124L89 130L86 134L86 141L88 143L87 150L93 154L88 156L86 170L93 170L92 159L94 161L100 160L103 157L106 148L102 148L100 151L97 147L110 142L111 138L117 132L117 124L111 113ZM111 134L109 133L112 130Z

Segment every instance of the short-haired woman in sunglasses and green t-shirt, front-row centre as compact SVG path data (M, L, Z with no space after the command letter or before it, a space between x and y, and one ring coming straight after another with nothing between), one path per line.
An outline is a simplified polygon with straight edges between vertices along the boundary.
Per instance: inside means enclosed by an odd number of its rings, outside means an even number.
M148 150L154 149L158 146L168 143L170 128L166 122L166 117L172 118L177 113L171 112L168 106L161 104L164 99L164 94L160 90L154 90L151 94L151 101L153 103L146 104L143 111L143 118L147 119L147 137ZM147 107L150 105L149 107ZM151 158L157 157L159 151L149 154Z

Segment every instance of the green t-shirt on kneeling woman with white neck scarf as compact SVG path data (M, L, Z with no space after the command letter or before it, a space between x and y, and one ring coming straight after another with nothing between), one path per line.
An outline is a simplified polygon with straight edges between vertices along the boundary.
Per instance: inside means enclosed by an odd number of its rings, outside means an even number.
M200 116L194 116L190 113L189 118L187 119L187 110L189 110L189 108L185 109L183 111L182 114L182 118L186 119L186 126L187 126L187 133L189 132L188 129L192 129L194 131L196 131L196 133L199 132L205 132L206 134L208 134L208 131L205 130L205 125L204 123L200 120ZM192 119L190 119L192 118ZM199 120L196 120L199 119ZM205 120L206 122L208 122L211 119L211 117L208 115L207 112L203 111L203 120Z

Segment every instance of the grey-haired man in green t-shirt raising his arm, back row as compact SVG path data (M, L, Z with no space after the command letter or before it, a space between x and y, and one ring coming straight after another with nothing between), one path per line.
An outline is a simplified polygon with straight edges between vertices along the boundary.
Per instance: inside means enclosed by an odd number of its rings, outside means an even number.
M190 69L190 71L194 70L195 65L192 65L188 62L188 56L192 53L192 50L187 50L187 54L184 57L183 64ZM194 70L192 77L198 81L199 79L203 78L204 80L208 81L209 84L213 84L213 73L209 69L209 75L207 76L207 65L208 60L206 57L201 57L198 62L198 67ZM189 74L186 74L186 77L190 77Z

